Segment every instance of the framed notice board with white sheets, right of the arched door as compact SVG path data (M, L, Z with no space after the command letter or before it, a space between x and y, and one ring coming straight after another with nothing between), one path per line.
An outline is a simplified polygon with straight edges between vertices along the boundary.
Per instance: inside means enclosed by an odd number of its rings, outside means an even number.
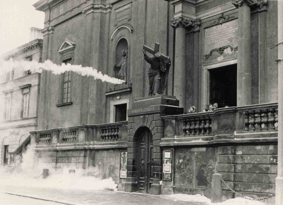
M162 180L172 181L172 149L163 151Z

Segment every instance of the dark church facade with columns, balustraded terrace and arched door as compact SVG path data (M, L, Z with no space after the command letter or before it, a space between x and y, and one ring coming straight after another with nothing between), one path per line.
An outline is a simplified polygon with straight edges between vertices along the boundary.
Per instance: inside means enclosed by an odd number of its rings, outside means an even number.
M214 173L245 195L275 191L276 1L41 0L34 7L45 12L43 61L126 81L43 71L31 132L36 165L97 167L129 192L210 197ZM148 96L143 48L170 58L162 94ZM195 113L187 113L191 106Z

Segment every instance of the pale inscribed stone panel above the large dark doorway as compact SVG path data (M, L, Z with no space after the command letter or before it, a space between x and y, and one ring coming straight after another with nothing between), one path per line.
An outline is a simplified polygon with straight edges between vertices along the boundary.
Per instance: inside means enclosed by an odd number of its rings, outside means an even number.
M225 45L232 47L238 45L238 19L204 29L204 52L206 54L212 49Z

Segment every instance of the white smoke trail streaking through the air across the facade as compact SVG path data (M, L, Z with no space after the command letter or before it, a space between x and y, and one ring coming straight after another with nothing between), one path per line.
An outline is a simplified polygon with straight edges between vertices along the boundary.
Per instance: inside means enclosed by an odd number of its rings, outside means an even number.
M36 61L25 61L25 60L0 60L0 70L7 72L13 69L20 69L23 71L31 70L33 73L41 73L43 70L51 71L54 74L64 73L65 71L74 71L81 75L92 76L94 79L100 79L102 82L106 81L113 84L122 84L125 81L110 77L106 74L102 74L101 71L97 71L92 67L82 67L81 65L61 64L57 65L50 60L46 60L43 63Z

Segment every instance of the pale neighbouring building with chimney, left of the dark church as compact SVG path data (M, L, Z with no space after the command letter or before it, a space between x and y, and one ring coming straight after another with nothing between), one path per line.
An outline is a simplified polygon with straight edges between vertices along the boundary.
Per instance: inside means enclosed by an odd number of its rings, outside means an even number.
M4 53L5 60L41 62L41 29L30 28L30 41ZM14 69L0 75L0 156L1 166L12 165L14 155L30 143L31 131L37 130L40 73Z

